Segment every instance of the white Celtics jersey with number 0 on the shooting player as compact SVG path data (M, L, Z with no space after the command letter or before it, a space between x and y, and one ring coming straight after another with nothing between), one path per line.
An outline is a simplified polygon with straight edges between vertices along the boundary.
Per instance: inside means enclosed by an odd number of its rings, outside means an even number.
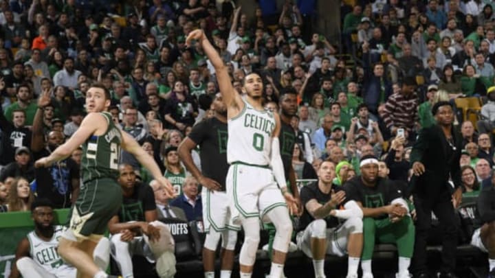
M269 165L274 115L254 109L244 101L243 111L228 120L227 162Z

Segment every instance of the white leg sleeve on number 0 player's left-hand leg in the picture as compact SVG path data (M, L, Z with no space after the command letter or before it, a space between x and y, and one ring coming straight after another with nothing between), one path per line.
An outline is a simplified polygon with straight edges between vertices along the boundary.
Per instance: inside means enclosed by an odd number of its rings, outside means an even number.
M244 266L254 265L256 251L260 241L260 225L258 218L246 218L243 220L244 243L239 254L239 264Z

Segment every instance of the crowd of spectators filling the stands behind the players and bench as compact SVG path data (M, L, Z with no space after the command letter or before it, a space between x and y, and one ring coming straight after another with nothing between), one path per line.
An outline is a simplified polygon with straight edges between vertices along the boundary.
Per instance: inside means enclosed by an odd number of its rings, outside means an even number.
M113 121L155 159L177 194L162 198L151 174L124 152L119 163L153 187L149 208L200 222L201 187L177 147L214 115L219 89L203 49L185 45L196 28L219 51L239 94L252 72L263 77L268 110L278 111L283 90L296 89L298 179L318 178L322 161L332 161L334 184L343 185L360 175L361 157L373 155L384 162L380 176L407 183L419 130L435 124L434 103L478 97L479 121L456 109L464 195L476 197L482 183L492 183L492 1L342 1L340 42L313 31L315 1L287 0L277 10L276 1L260 0L254 14L234 2L0 1L0 211L29 211L35 198L57 209L72 205L82 150L49 168L35 169L34 161L74 134L85 93L99 82L111 91ZM200 151L193 152L197 167Z

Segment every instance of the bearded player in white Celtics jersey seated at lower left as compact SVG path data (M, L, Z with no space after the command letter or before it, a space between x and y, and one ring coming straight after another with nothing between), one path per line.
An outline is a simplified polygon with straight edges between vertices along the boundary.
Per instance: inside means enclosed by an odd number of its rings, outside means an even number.
M77 269L65 264L56 251L63 227L53 224L52 202L47 199L34 201L31 205L31 216L34 220L34 231L28 233L19 242L15 264L9 278L18 278L21 275L29 278L75 278ZM100 248L100 246L103 247ZM109 250L107 239L100 241L95 252L101 253L104 249ZM106 269L109 263L109 253L104 255L100 258L102 261L97 264L100 268Z

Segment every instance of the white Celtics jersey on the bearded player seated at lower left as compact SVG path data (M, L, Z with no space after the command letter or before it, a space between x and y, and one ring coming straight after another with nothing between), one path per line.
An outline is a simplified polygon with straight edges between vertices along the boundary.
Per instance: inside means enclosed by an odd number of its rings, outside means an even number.
M57 275L57 273L67 270L66 268L72 268L72 266L64 264L62 258L56 251L56 247L58 246L58 238L61 237L62 233L63 227L55 226L55 233L52 236L52 239L48 242L39 238L34 231L28 233L28 240L31 246L31 258L34 262L45 268L47 272L52 273L53 275Z

